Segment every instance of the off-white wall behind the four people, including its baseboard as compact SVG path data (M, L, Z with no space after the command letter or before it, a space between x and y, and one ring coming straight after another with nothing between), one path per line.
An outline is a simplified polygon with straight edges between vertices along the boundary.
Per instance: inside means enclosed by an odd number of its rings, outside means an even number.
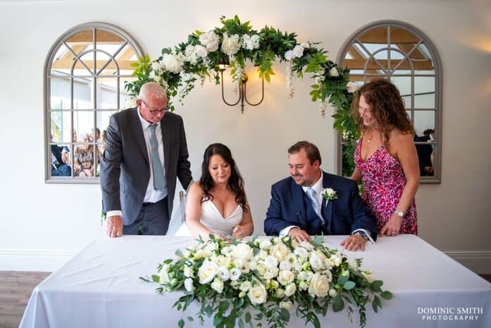
M15 1L0 2L0 269L51 270L89 241L99 226L98 185L44 183L44 60L55 40L80 23L104 21L129 32L152 58L194 31L219 25L235 13L260 29L297 32L322 42L335 59L349 35L375 20L395 19L425 32L443 65L442 183L416 195L419 235L481 273L491 273L491 4L489 1ZM461 1L464 2L464 1ZM449 24L449 22L452 22ZM210 142L230 146L247 183L256 233L271 183L287 176L287 147L316 143L323 169L334 170L332 119L309 100L309 79L287 98L285 67L266 85L259 107L227 107L220 88L197 87L185 106L194 178ZM259 82L251 78L251 85ZM331 109L332 112L332 109ZM480 260L479 260L480 259Z

